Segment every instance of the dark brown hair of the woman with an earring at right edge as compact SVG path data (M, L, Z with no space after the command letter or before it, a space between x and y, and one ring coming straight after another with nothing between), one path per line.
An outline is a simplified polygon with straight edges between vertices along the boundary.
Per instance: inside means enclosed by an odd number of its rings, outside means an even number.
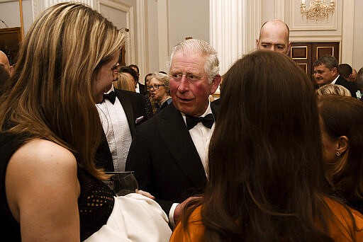
M363 202L363 103L356 98L323 95L318 107L325 132L331 139L346 136L348 149L327 173L337 192L350 202Z

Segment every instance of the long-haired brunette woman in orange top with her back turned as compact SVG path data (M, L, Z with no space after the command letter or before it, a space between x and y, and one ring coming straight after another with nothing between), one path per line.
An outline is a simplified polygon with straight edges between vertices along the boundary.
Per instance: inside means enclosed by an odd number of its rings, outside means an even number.
M320 189L316 96L300 67L257 51L223 80L206 192L171 241L362 241L362 215Z

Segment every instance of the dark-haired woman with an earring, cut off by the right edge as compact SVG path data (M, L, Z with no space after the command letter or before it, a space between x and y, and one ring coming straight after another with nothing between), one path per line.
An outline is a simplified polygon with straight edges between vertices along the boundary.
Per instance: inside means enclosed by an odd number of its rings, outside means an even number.
M363 212L363 102L339 95L318 98L325 178L331 193Z

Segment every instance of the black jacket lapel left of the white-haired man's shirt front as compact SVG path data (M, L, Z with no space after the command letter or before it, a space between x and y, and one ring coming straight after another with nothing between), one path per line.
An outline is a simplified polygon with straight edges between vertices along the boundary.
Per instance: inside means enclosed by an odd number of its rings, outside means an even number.
M181 113L174 105L168 105L160 115L157 129L173 160L191 183L204 183L206 174Z

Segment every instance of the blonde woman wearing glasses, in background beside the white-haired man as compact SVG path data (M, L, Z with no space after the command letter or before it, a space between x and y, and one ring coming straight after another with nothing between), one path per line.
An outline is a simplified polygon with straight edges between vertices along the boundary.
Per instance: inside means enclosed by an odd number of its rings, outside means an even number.
M155 101L157 113L167 105L172 103L169 88L169 76L160 72L155 72L151 75L149 83L150 97Z

